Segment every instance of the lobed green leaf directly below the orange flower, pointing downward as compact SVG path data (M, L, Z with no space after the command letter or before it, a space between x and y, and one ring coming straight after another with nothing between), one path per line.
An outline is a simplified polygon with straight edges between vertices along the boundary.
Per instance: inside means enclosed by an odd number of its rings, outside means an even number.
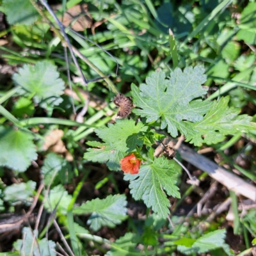
M124 179L130 180L129 188L135 200L142 199L148 208L152 207L159 216L166 218L170 213L170 202L166 194L180 198L179 188L175 186L176 180L173 180L176 174L177 171L167 159L155 157L154 163L142 165L136 175L125 174Z

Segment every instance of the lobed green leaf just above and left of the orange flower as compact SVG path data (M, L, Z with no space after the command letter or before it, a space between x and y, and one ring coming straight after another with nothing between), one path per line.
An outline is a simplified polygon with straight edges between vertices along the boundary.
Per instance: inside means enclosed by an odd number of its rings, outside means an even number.
M88 141L88 145L96 148L88 148L84 159L106 163L110 170L118 171L120 170L119 162L127 156L127 152L143 145L143 139L140 137L147 129L148 127L141 122L135 124L134 120L128 119L118 119L115 124L100 127L95 132L106 143Z

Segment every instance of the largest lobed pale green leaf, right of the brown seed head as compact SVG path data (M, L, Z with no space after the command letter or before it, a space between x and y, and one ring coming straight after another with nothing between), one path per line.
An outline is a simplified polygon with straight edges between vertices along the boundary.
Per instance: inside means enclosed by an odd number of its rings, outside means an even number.
M132 97L136 115L147 117L147 122L161 118L161 129L168 126L168 132L175 137L182 127L184 120L197 122L202 120L202 113L206 113L211 104L191 100L202 97L207 90L201 84L206 81L204 68L188 67L184 72L176 68L170 74L170 79L165 79L162 71L152 72L146 79L147 84L140 84L140 88L132 84ZM192 103L192 102L191 102ZM198 109L201 110L198 112Z

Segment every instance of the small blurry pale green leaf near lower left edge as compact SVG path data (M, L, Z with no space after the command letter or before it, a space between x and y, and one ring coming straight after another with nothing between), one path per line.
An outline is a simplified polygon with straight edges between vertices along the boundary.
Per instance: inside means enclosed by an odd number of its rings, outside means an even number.
M24 203L31 205L33 202L33 191L36 188L36 182L29 180L27 183L12 184L4 189L4 201L12 205Z

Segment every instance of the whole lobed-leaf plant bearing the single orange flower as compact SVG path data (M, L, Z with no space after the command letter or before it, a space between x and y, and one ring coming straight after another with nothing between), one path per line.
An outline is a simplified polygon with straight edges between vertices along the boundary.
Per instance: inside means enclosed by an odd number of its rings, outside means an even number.
M122 169L135 200L143 200L148 208L167 218L170 214L168 196L180 198L175 186L177 170L166 157L154 157L152 146L161 141L159 132L167 131L175 138L178 132L196 146L214 144L228 134L248 132L256 128L252 117L239 115L239 109L228 107L228 97L202 100L207 93L204 68L176 68L166 79L164 72L152 72L145 84L132 84L132 102L136 106L133 119L117 119L115 124L95 129L104 141L88 141L84 158L107 163L110 170ZM138 116L140 120L138 121ZM159 132L156 132L158 127ZM159 129L160 127L160 129ZM140 168L140 169L139 169Z

